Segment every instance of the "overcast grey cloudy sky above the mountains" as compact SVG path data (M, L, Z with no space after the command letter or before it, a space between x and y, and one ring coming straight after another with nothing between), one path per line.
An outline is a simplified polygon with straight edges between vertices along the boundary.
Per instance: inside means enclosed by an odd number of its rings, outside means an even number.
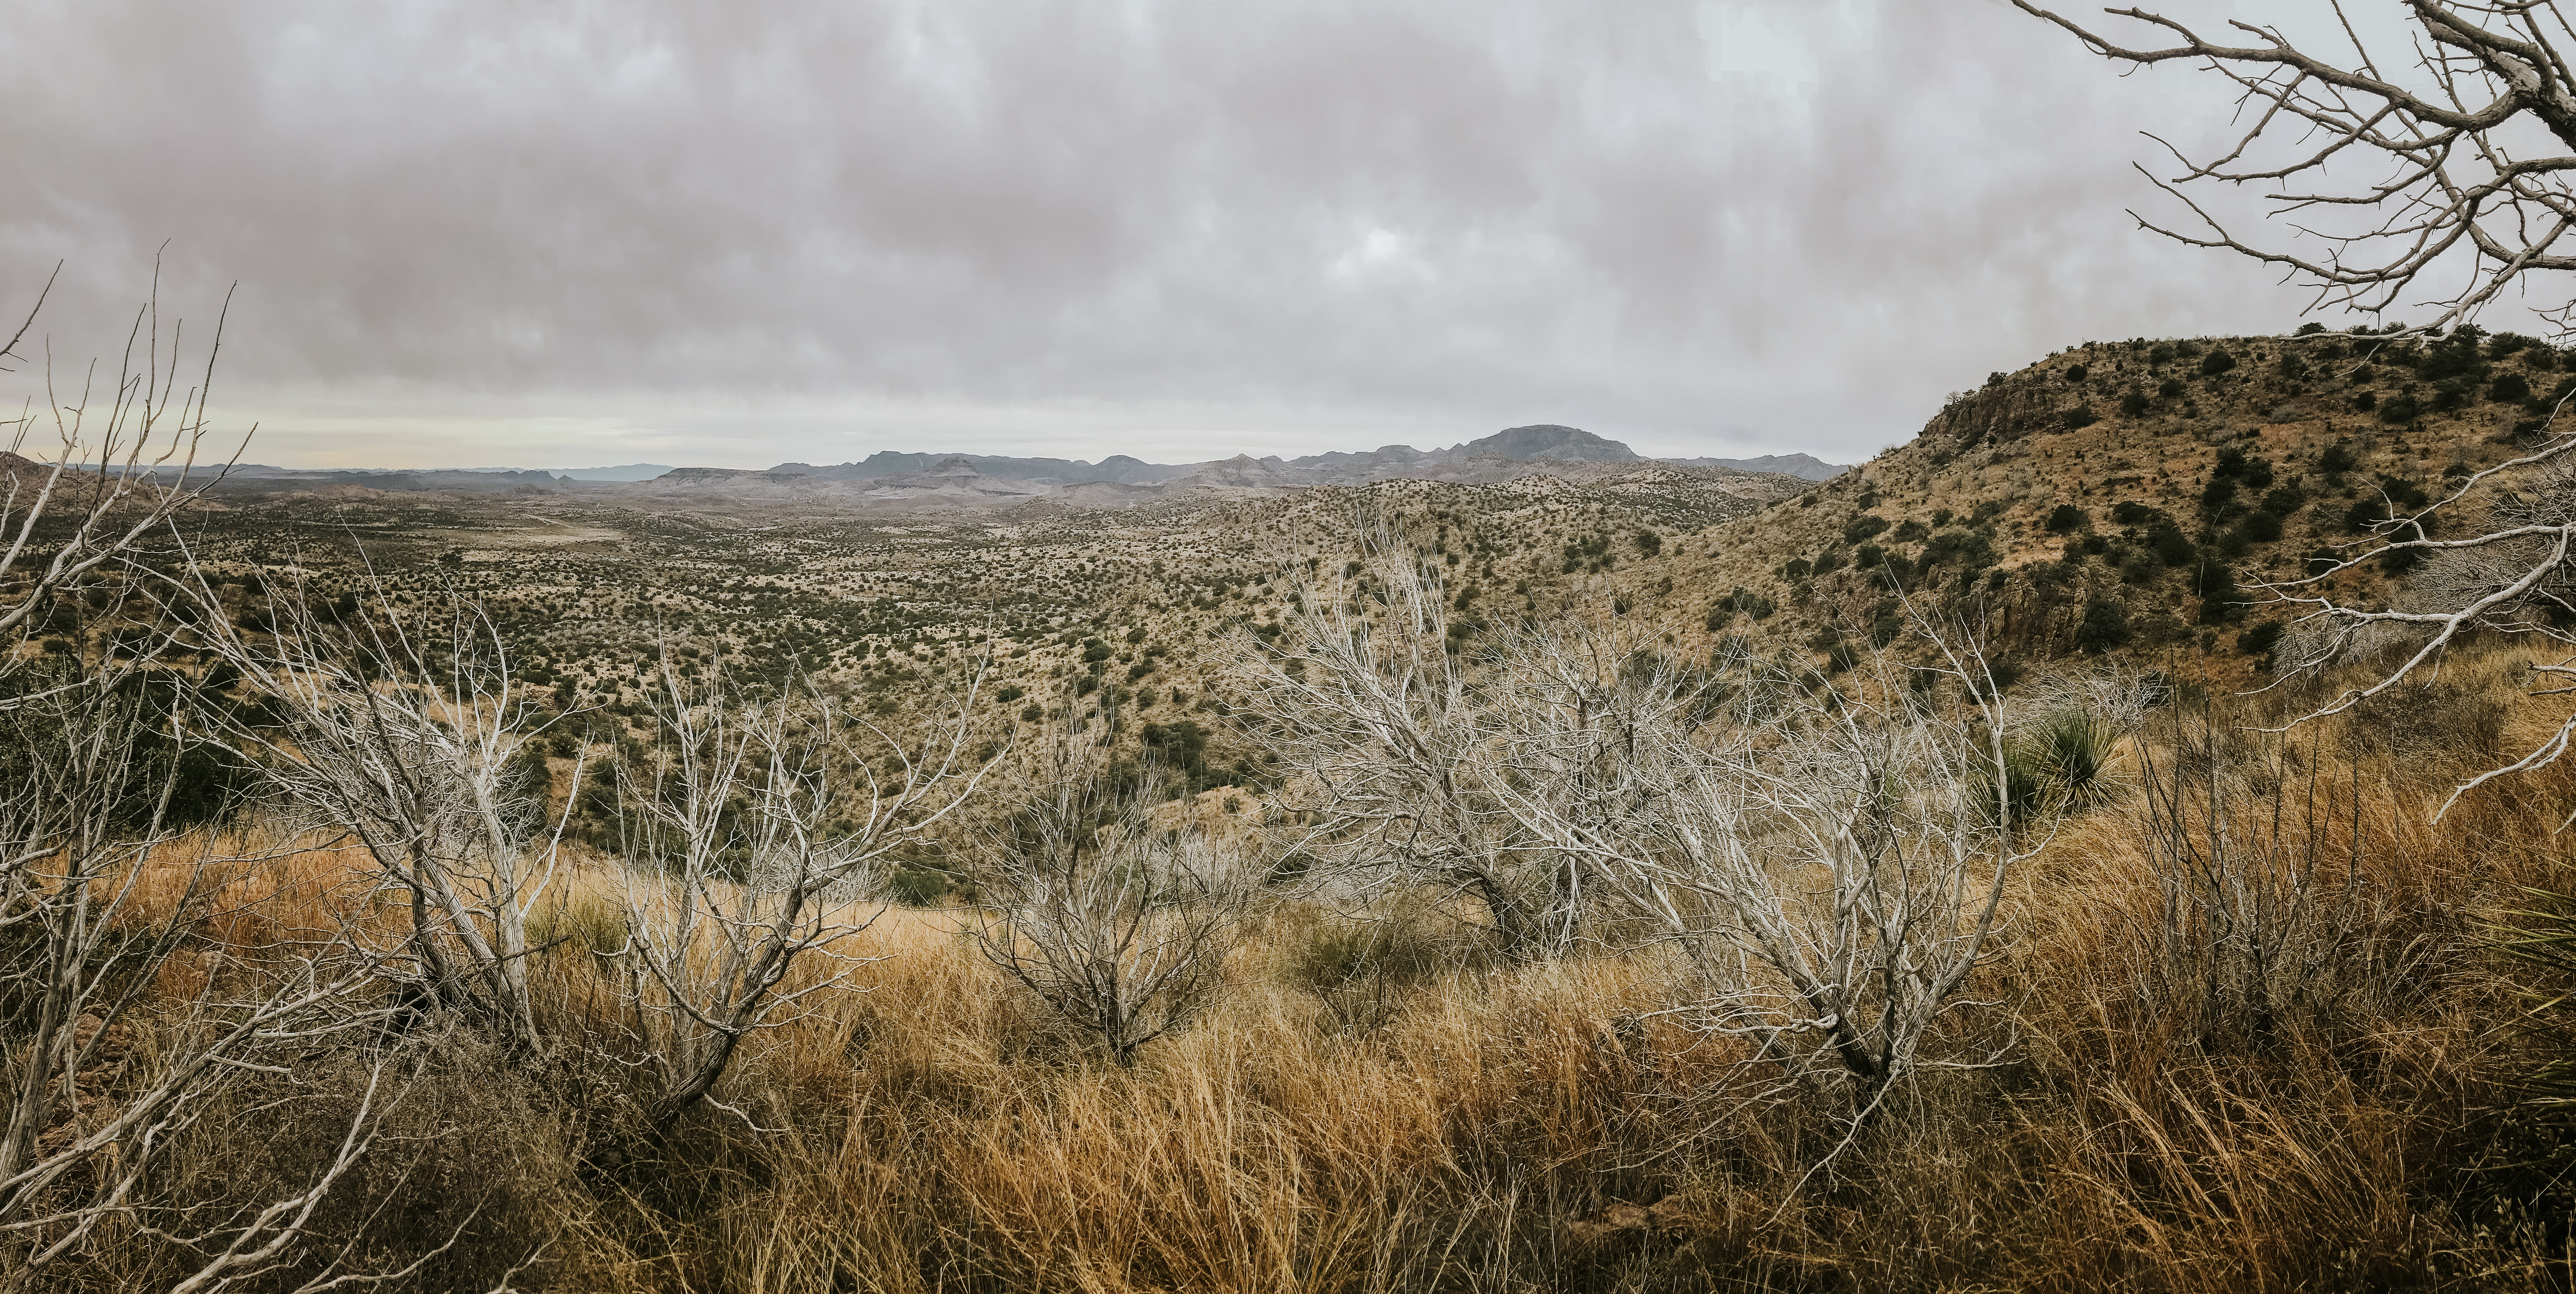
M0 85L57 384L167 242L193 338L240 284L224 425L299 467L1855 461L2303 304L2123 214L2215 85L2002 0L18 0Z

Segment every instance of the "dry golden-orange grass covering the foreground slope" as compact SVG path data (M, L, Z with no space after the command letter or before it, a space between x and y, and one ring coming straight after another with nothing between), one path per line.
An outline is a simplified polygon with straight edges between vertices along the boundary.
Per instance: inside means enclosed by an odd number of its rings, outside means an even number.
M2509 657L2460 660L2421 704L2494 701ZM2540 722L2506 706L2499 740ZM2576 768L2432 827L2473 760L2406 740L2339 719L2275 750L2298 809L2280 838L2360 894L2308 936L2344 941L2313 1010L2213 1031L2159 987L2146 758L2254 740L2151 729L2128 786L2017 879L2009 956L1976 987L1996 1005L1955 1026L2017 1036L2009 1062L1922 1075L1821 1173L1826 1108L1744 1044L1649 1016L1687 982L1656 949L1463 961L1347 1031L1293 972L1334 918L1291 905L1206 1018L1118 1070L974 954L971 915L891 910L835 949L881 961L762 1034L726 1108L652 1144L611 980L564 938L538 964L564 1057L531 1075L456 1044L330 1227L374 1227L363 1253L386 1263L461 1235L420 1289L487 1289L531 1253L515 1289L2563 1289L2550 1173L2576 1157L2517 1106L2537 1044L2486 923L2563 884L2550 827ZM2264 789L2223 797L2267 815ZM353 902L330 853L232 884L227 913L273 931ZM556 884L549 931L613 920L603 871ZM191 1188L216 1188L211 1165L224 1191L291 1181L330 1106L276 1108L204 1124Z

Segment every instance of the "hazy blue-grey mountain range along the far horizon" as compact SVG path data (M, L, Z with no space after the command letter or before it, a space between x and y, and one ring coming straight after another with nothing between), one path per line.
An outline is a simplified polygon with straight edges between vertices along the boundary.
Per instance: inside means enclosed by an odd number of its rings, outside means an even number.
M1082 459L1012 459L997 454L896 454L878 451L850 464L778 464L760 469L732 467L577 467L577 469L507 469L507 467L443 467L443 469L291 469L240 464L224 479L224 492L278 492L278 490L456 490L456 492L598 492L598 490L724 490L724 492L775 492L827 490L845 503L920 503L920 505L994 505L1033 497L1051 497L1066 505L1123 505L1162 497L1175 490L1229 490L1270 492L1316 485L1365 485L1378 479L1445 479L1445 482L1502 482L1533 472L1558 477L1595 477L1618 464L1687 467L1716 472L1785 474L1821 482L1842 472L1837 464L1806 454L1772 454L1762 459L1646 459L1633 449L1592 436L1582 428L1553 423L1507 428L1481 441L1450 449L1381 446L1363 454L1309 454L1301 459L1255 459L1236 454L1200 464L1149 464L1126 454L1100 461Z

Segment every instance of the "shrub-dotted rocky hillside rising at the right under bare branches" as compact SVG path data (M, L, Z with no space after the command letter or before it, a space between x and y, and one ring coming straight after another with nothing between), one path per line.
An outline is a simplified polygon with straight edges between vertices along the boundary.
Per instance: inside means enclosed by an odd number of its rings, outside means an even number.
M1896 593L1984 611L2014 660L2133 652L2259 673L2282 632L2251 585L2311 570L2530 443L2576 358L2517 335L2084 343L1955 394L1906 446L1638 580L1680 575L1705 632L1829 652ZM2347 598L2406 570L2347 572ZM2249 606L2254 603L2254 606Z

